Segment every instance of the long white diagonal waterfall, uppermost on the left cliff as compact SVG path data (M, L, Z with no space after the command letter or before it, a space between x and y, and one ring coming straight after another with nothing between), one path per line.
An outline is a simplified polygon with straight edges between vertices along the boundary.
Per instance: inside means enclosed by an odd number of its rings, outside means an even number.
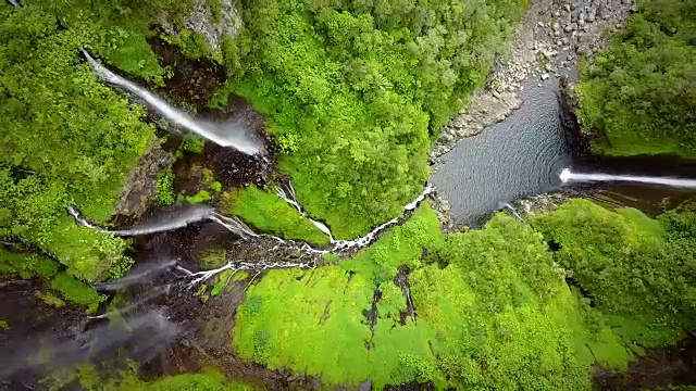
M246 154L251 155L262 151L261 144L254 140L246 129L232 124L217 125L196 119L157 94L109 71L105 66L92 59L87 51L82 50L82 52L99 77L140 98L173 124L192 131L219 146L232 147Z

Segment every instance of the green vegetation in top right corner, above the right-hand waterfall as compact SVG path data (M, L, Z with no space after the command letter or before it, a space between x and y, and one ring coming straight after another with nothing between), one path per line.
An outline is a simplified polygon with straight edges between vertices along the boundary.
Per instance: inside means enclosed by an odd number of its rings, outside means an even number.
M580 117L592 149L696 156L696 4L643 0L608 49L585 62Z

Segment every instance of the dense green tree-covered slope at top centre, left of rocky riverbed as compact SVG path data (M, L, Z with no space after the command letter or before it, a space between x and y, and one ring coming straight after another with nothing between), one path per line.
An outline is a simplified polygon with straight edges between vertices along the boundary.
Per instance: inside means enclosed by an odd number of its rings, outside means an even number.
M311 215L338 238L399 214L431 139L480 86L524 0L244 1L231 89L272 121Z

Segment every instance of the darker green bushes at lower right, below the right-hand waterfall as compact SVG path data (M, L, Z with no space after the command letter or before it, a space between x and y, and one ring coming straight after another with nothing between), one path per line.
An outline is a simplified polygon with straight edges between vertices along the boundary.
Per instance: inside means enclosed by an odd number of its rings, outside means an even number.
M642 344L666 344L696 329L696 214L671 212L654 220L637 210L610 213L573 200L534 225L560 249L555 257L614 321ZM568 222L573 222L568 224Z

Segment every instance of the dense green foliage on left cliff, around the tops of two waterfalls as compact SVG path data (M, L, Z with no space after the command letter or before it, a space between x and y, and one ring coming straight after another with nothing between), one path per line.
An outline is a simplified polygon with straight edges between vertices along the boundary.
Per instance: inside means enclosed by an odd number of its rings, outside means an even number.
M0 237L29 240L80 278L103 278L124 264L125 242L76 226L65 207L107 220L154 129L80 62L79 49L162 83L150 23L187 2L23 3L0 8Z

